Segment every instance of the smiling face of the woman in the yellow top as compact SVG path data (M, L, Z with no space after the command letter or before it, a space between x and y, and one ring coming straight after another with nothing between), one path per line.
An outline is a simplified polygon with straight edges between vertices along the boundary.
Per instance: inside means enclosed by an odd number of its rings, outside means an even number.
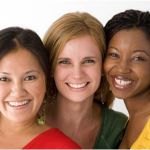
M108 45L104 63L113 94L133 98L150 90L150 40L138 29L117 32Z

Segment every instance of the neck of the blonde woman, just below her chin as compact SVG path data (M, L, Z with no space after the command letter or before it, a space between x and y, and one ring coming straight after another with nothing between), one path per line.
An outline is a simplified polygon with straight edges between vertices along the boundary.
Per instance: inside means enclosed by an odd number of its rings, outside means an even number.
M63 118L67 122L75 124L83 123L84 120L93 117L93 101L84 102L68 102L58 99L57 101L58 117ZM61 116L59 115L61 114Z

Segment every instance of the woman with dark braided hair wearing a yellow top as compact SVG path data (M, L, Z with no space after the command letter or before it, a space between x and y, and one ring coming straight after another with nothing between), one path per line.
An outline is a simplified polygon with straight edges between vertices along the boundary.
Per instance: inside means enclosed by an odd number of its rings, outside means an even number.
M129 121L120 148L150 148L150 12L126 10L105 26L107 80Z

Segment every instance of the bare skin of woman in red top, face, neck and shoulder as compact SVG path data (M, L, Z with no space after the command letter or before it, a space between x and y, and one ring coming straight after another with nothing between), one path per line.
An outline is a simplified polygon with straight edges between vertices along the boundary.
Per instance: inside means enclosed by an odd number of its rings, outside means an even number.
M0 59L0 148L22 148L48 128L36 122L45 91L44 72L31 52L19 48Z

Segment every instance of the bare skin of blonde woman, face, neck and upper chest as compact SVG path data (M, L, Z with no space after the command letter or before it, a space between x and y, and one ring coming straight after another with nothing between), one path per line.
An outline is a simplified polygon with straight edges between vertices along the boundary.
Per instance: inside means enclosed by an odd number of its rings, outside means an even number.
M100 107L93 103L93 96L101 80L101 62L96 42L84 35L65 44L54 71L58 95L49 109L48 123L82 148L93 147L100 127Z

